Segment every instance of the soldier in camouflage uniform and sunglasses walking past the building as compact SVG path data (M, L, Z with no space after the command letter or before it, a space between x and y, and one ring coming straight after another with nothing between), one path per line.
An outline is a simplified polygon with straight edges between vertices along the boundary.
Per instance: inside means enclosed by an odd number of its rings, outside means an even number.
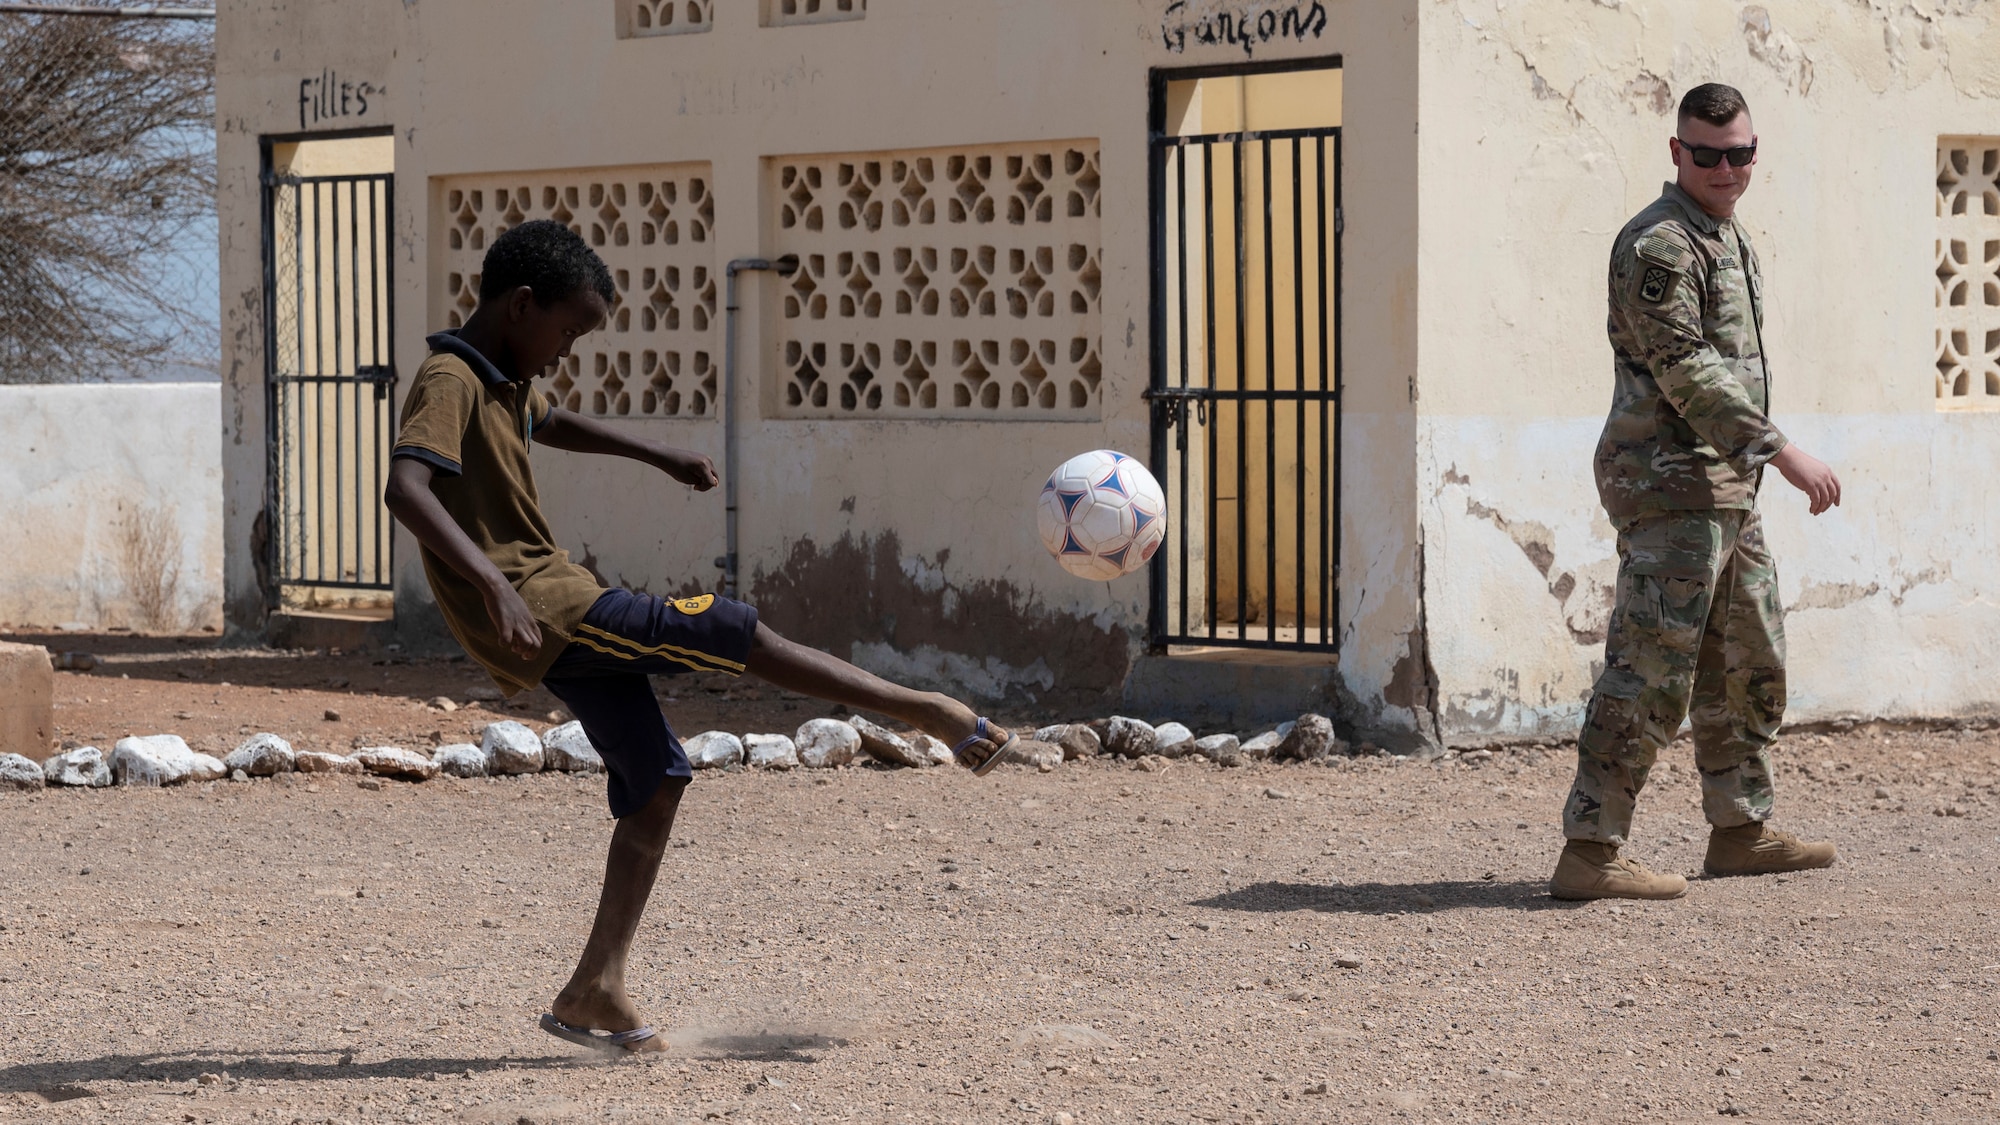
M1688 90L1676 180L1624 226L1610 262L1612 412L1598 498L1618 528L1618 601L1562 809L1558 899L1678 899L1680 875L1618 855L1660 747L1694 705L1710 875L1826 867L1834 845L1768 827L1770 743L1784 717L1784 611L1756 492L1768 462L1840 504L1834 470L1770 420L1762 278L1736 200L1756 168L1750 108Z

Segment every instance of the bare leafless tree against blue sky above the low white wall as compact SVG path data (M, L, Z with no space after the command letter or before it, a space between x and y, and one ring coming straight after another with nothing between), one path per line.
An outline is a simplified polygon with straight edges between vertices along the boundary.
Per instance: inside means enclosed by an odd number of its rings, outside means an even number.
M212 22L0 10L0 382L122 374L208 322L160 256L214 196Z

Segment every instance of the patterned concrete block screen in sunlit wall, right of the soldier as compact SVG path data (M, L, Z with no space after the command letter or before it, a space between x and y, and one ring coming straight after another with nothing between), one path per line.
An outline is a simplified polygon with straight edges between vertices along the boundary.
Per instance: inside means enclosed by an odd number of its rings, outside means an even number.
M1938 408L2000 410L2000 136L1938 140Z

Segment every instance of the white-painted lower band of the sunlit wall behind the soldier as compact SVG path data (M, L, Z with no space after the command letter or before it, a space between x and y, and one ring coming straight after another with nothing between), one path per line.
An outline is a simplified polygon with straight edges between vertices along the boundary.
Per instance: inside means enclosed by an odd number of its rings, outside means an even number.
M1788 721L2000 713L1996 414L1780 414L1840 472L1814 518L1766 472L1790 647ZM1618 575L1598 418L1422 422L1426 611L1448 739L1572 735Z

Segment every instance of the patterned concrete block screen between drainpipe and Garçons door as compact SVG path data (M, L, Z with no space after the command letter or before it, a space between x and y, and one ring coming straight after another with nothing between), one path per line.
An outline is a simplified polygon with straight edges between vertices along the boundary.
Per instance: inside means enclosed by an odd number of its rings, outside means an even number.
M1094 418L1094 140L782 158L772 248L792 418Z

